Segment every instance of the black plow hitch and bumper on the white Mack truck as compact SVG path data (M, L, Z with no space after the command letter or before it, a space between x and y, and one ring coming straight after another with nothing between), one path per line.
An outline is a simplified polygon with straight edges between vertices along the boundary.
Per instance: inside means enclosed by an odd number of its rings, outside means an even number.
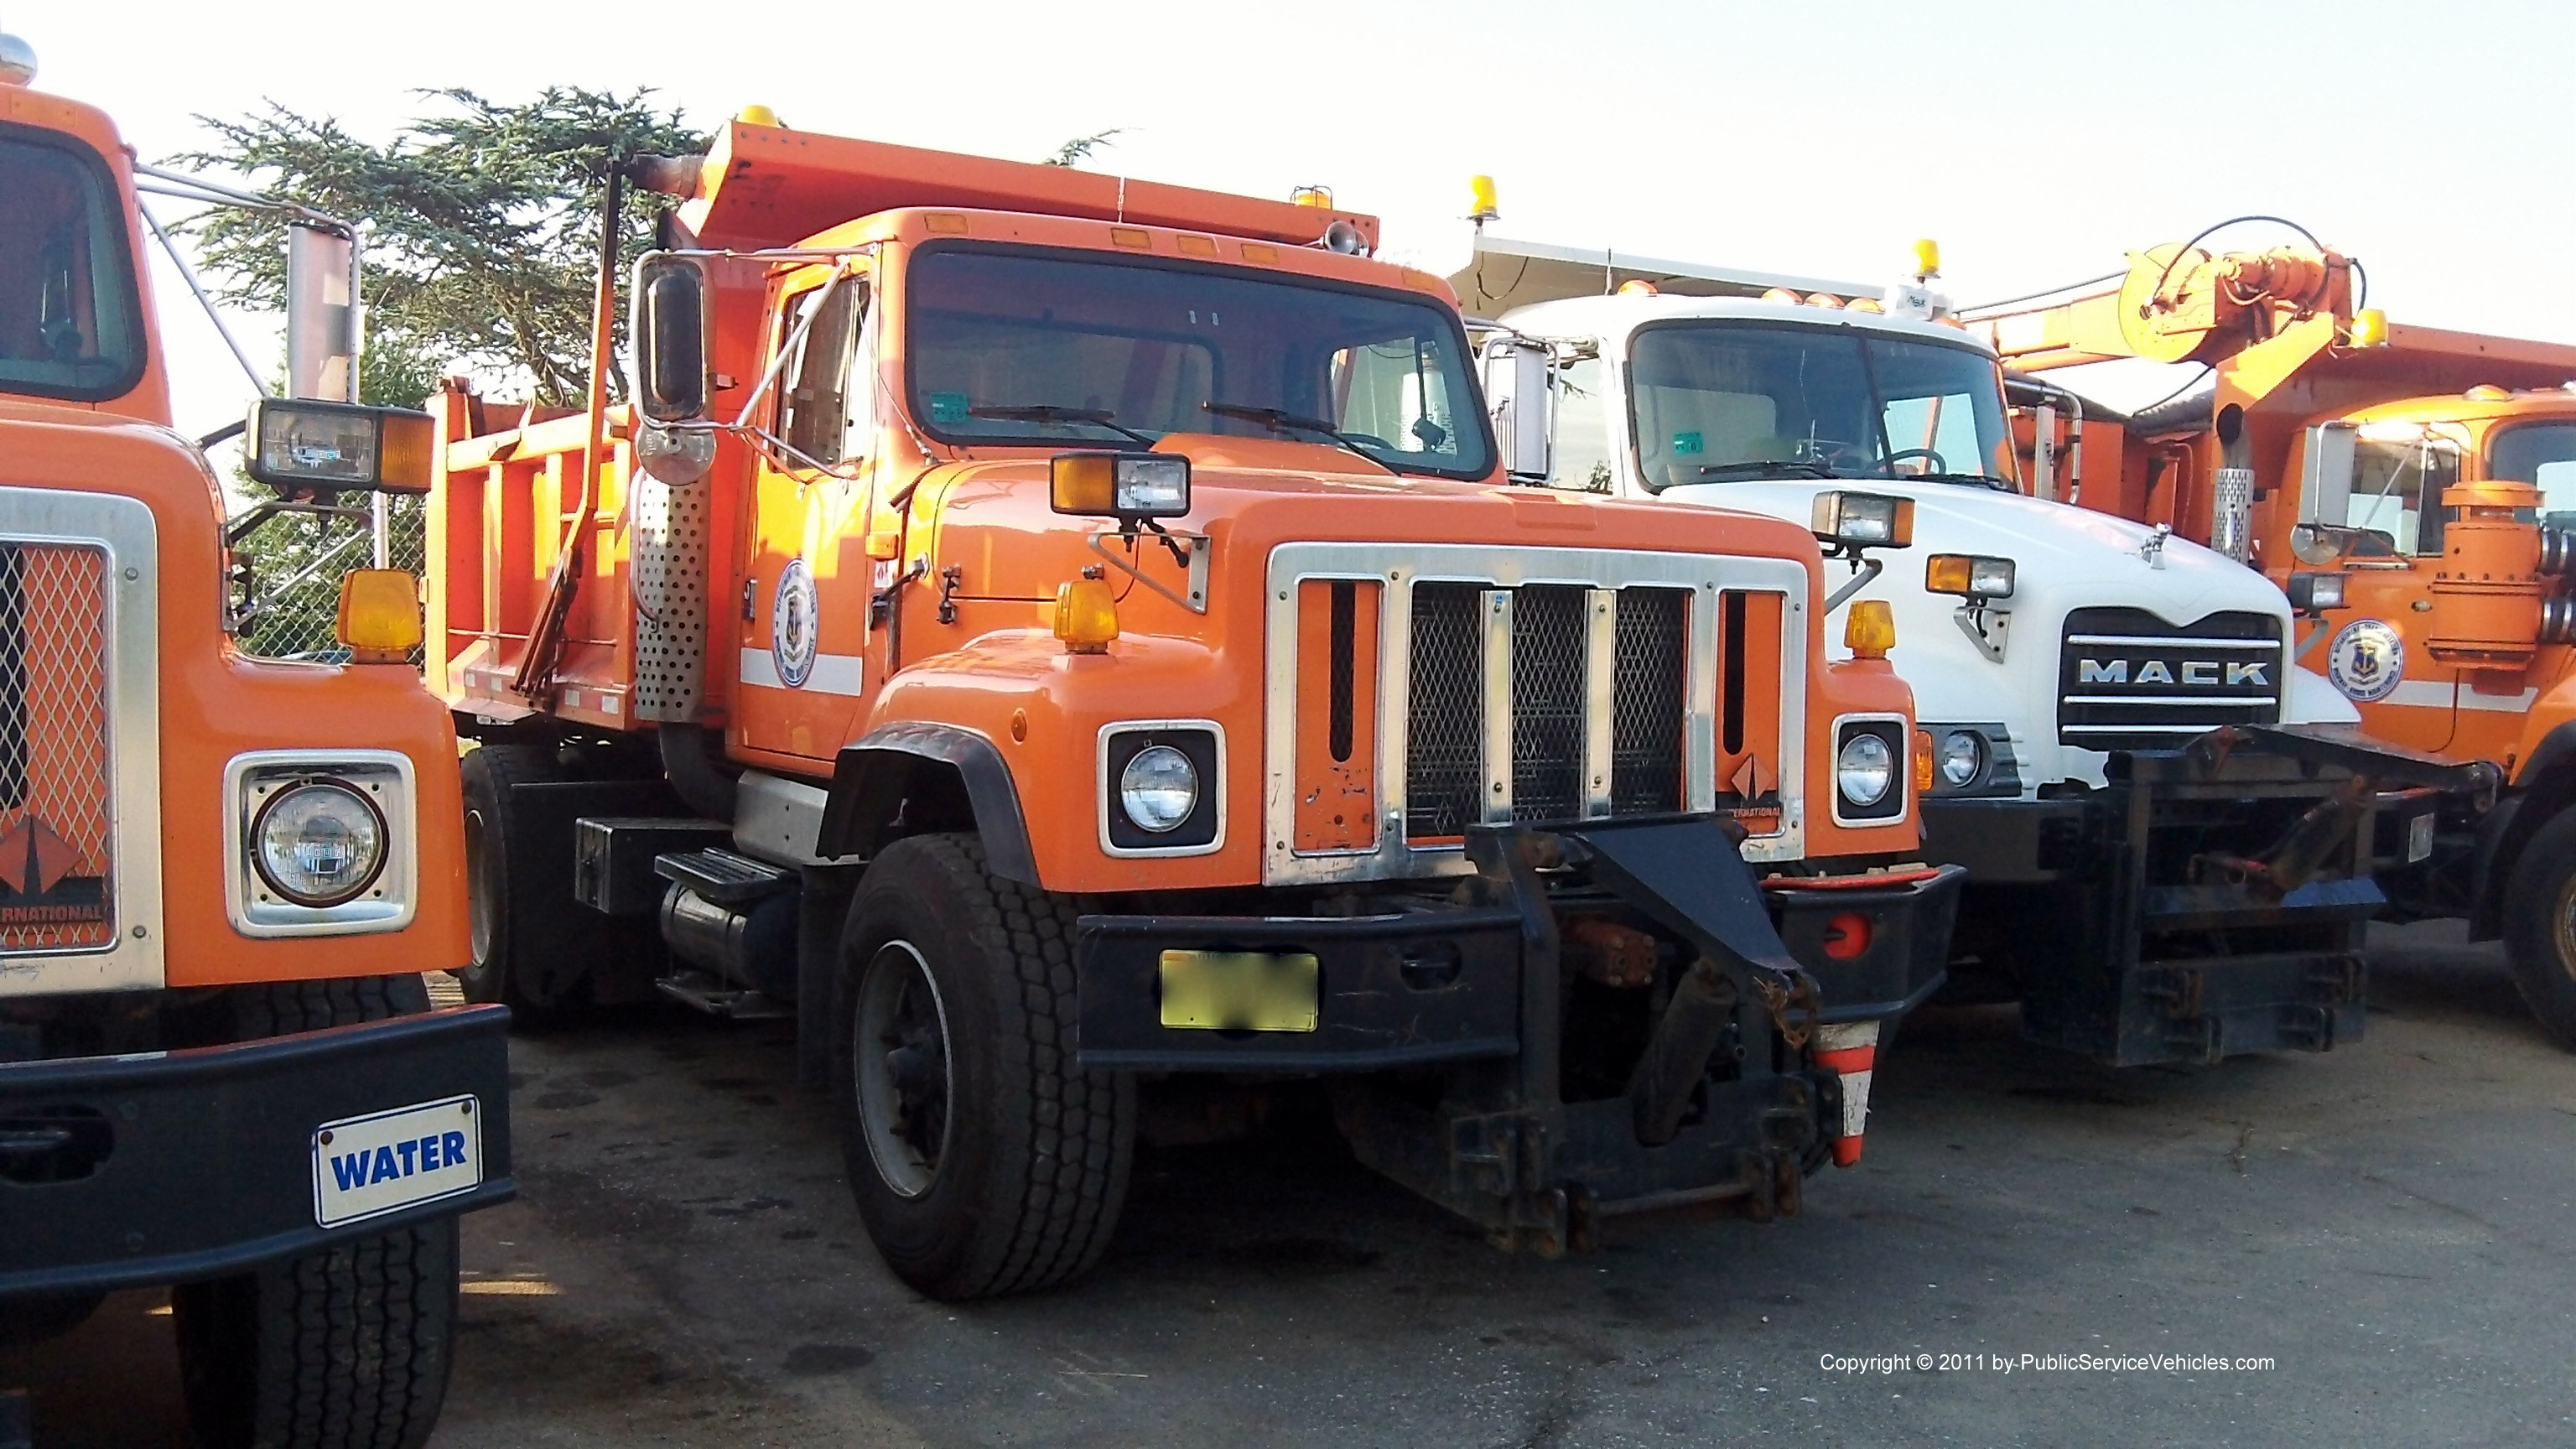
M2378 815L2478 789L2476 766L2239 724L2117 753L2079 797L1927 797L1924 851L1968 869L1960 949L2020 990L2032 1042L2107 1065L2321 1052L2362 1034Z

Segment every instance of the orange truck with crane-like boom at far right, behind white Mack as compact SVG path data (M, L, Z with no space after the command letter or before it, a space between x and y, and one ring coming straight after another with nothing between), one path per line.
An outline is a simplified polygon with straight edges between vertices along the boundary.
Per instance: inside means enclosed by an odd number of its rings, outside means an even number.
M2197 361L2210 384L2074 423L2027 397L2076 500L2210 539L2290 593L2298 652L2362 730L2499 771L2424 859L2406 915L2504 936L2576 1047L2576 345L2391 325L2331 248L2154 248L2117 291L1994 317L2014 366ZM2040 407L2050 407L2045 415ZM2081 407L2081 402L2076 402ZM2488 804L2488 802L2478 802Z

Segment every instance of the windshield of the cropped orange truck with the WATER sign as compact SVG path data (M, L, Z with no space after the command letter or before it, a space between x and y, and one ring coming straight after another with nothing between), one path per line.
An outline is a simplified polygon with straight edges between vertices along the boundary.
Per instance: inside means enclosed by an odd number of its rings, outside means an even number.
M95 155L0 126L0 392L103 402L142 376L113 196Z

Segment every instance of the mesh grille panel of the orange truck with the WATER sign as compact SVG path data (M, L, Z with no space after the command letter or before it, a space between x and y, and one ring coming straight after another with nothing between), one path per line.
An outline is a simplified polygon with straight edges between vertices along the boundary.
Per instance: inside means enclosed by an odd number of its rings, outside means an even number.
M0 541L0 951L116 941L108 554Z

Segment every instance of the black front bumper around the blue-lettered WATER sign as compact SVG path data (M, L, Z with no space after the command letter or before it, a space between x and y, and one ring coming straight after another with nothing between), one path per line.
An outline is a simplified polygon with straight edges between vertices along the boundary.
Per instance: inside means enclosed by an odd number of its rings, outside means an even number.
M515 1196L510 1011L0 1062L0 1297L209 1279ZM471 1096L482 1186L325 1230L317 1127Z

